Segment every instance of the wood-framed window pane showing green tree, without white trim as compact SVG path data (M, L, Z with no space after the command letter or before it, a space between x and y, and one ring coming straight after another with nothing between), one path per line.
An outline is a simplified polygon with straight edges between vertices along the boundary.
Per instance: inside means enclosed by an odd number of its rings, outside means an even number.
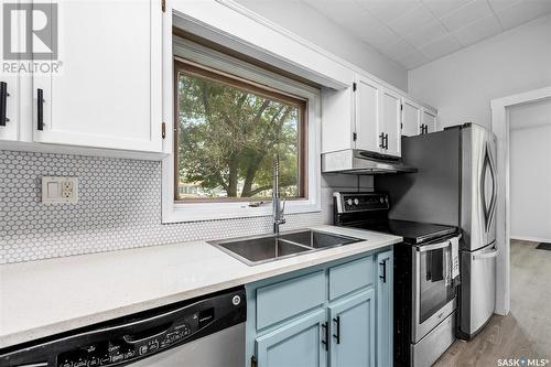
M190 62L175 63L174 199L304 198L307 100Z

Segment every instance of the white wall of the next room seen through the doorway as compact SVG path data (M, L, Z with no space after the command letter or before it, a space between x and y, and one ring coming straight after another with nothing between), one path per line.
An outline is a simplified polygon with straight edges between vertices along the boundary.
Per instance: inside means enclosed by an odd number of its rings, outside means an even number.
M551 100L508 114L511 238L551 241Z

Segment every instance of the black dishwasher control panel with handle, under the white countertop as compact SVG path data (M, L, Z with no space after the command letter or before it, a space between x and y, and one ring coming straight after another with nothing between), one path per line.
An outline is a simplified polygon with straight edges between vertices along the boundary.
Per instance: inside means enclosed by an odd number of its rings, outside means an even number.
M216 333L246 321L244 288L125 316L61 334L57 338L0 349L0 366L117 366ZM66 335L69 334L69 335Z

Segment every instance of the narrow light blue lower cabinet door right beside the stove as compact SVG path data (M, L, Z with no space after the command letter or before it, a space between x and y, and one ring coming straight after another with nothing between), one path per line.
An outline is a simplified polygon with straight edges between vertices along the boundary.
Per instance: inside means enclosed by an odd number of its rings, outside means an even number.
M392 366L393 252L377 256L377 366Z

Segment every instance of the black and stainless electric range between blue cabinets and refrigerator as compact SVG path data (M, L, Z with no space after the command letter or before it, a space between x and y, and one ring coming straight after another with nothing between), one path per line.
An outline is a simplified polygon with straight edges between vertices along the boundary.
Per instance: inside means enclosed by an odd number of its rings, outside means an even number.
M336 226L403 238L393 247L395 366L431 366L455 341L460 229L391 219L386 193L336 192L333 202Z

